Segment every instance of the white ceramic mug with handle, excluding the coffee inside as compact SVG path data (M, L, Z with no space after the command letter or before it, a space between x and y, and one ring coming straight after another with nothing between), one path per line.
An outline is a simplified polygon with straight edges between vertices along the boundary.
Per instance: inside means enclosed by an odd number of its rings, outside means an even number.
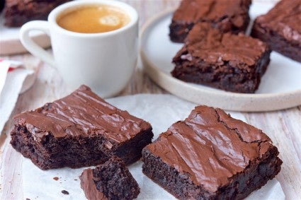
M117 6L127 13L130 23L105 33L75 33L57 25L59 14L90 4ZM29 37L30 30L41 30L50 35L53 56L33 42ZM101 97L108 98L127 86L137 64L138 14L120 1L70 1L55 8L47 21L25 23L20 38L28 52L56 67L70 88L85 84Z

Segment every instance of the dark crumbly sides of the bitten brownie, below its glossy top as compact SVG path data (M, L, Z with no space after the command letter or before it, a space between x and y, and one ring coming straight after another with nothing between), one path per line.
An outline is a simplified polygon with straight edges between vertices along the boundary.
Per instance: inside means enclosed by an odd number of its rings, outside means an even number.
M130 165L141 158L142 148L152 142L153 136L150 127L110 152L106 146L106 139L101 136L87 138L69 136L56 139L48 134L42 138L42 142L38 142L26 127L16 124L11 131L11 145L42 170L98 165L113 155L120 156L126 165Z

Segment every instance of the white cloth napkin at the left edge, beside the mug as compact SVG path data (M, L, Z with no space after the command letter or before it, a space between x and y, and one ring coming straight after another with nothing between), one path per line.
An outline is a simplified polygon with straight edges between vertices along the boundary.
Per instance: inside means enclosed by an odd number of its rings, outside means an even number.
M20 61L0 59L0 134L18 100L35 81L34 71Z

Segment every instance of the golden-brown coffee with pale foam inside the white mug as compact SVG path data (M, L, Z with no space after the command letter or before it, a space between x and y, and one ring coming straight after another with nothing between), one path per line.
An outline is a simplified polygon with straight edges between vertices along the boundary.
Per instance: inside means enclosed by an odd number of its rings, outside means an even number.
M110 5L81 6L65 11L57 24L77 33L104 33L117 30L130 22L130 16L121 8Z

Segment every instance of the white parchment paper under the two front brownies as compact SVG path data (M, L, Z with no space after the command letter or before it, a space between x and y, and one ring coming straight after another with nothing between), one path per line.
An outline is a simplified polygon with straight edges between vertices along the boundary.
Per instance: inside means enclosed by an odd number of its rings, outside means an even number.
M116 107L147 120L152 124L154 139L178 120L185 119L195 105L172 95L132 95L108 99ZM244 115L230 112L232 117L246 121ZM137 199L175 199L159 185L142 173L142 162L130 165L130 172L140 186ZM86 199L80 187L79 175L84 168L40 170L27 158L23 158L23 199ZM55 179L58 178L58 180ZM66 190L69 194L63 194ZM266 186L250 194L247 199L285 199L285 195L276 180L270 180Z

